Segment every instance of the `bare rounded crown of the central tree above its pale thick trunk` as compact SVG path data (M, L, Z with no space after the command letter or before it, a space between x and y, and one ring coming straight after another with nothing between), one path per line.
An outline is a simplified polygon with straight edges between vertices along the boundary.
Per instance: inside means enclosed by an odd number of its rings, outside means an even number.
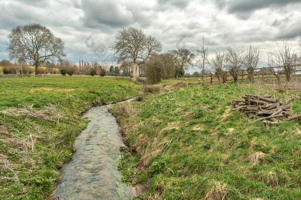
M122 28L116 33L111 49L115 51L118 63L128 61L141 65L152 54L160 52L162 45L143 30L129 27Z

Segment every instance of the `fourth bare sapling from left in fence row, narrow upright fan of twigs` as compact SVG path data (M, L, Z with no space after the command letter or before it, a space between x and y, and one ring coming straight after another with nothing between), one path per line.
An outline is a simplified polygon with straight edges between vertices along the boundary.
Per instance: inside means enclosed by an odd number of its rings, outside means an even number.
M248 72L248 79L254 82L254 72L258 68L261 58L259 46L250 45L243 59L244 66Z

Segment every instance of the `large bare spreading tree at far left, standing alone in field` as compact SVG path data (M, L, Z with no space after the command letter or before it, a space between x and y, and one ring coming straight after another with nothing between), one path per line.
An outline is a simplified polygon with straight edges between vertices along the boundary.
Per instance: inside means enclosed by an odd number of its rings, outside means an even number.
M17 26L7 38L9 57L32 60L36 74L39 64L47 60L60 60L65 56L63 40L55 37L48 28L40 24Z

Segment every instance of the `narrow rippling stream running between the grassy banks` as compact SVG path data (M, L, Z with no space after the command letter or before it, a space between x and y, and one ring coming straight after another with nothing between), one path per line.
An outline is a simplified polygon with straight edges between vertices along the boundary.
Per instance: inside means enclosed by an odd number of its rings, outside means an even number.
M129 99L125 102L135 100ZM120 102L124 103L124 102ZM123 145L119 126L107 106L93 107L84 117L89 123L76 138L76 150L61 169L56 190L58 200L130 199L132 187L122 183L117 170L119 146Z

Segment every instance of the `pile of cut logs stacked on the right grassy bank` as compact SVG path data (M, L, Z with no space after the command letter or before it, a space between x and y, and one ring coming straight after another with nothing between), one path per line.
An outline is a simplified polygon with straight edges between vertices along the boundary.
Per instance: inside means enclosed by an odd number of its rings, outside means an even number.
M263 121L265 124L278 124L283 120L301 120L301 115L293 116L293 110L289 105L292 98L283 103L271 98L272 95L254 95L246 94L241 100L233 100L234 111L242 111L246 115L255 115L257 121Z

